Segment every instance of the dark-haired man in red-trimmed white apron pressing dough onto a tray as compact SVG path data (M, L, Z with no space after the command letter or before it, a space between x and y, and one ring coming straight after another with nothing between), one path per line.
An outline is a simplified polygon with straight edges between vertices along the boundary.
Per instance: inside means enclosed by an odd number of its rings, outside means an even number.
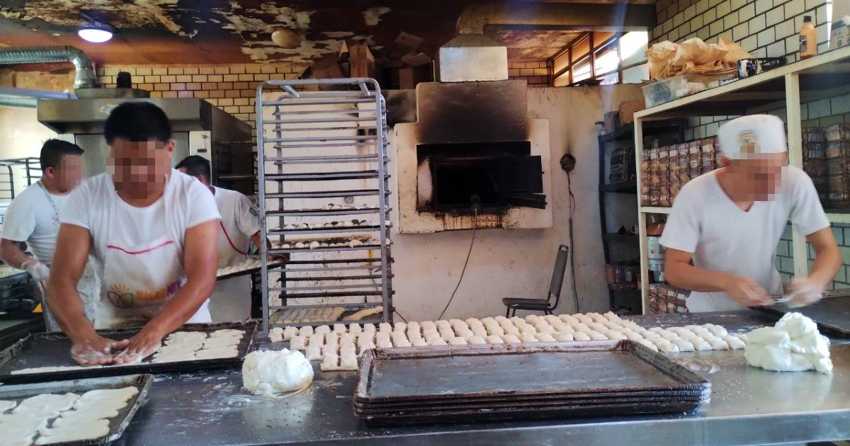
M104 127L107 172L88 178L62 209L48 298L80 364L123 364L156 351L188 323L209 323L215 289L218 211L201 183L171 168L168 117L149 102L125 102ZM102 265L96 325L76 286L92 251ZM143 326L122 341L98 329Z

